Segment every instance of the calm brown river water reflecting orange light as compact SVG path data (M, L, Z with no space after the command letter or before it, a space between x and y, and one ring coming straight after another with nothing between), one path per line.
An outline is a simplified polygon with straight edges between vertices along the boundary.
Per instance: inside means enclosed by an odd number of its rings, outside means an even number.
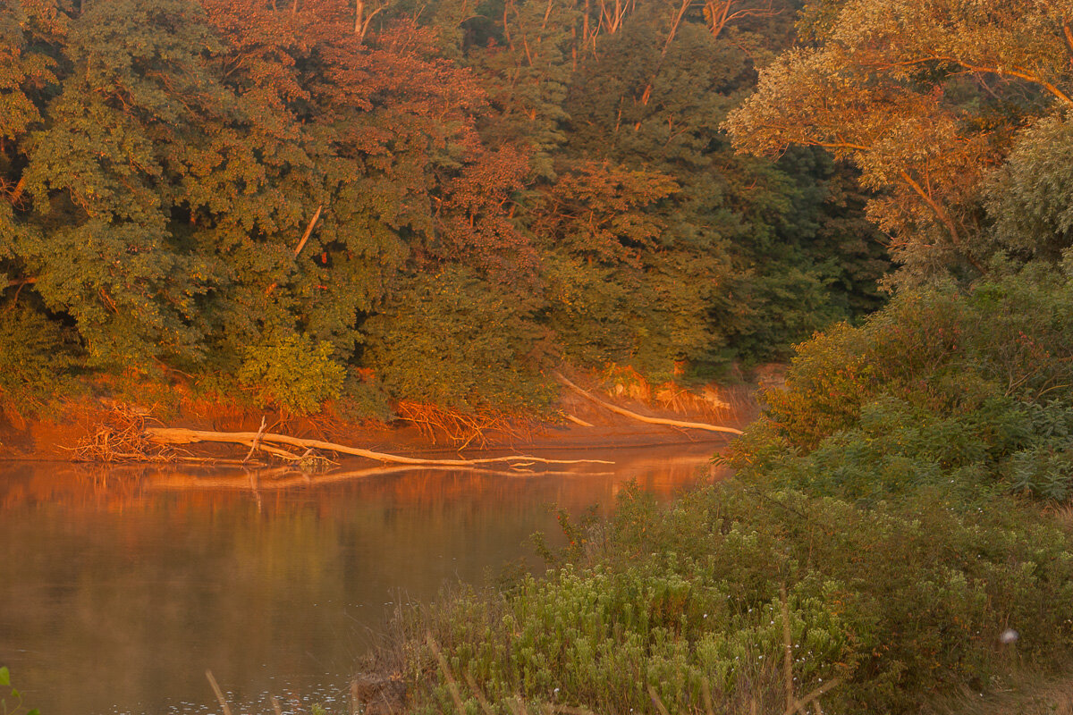
M671 498L714 450L542 452L615 464L525 475L0 464L0 666L43 715L216 713L206 670L236 714L349 712L397 604L538 566L549 505L606 510L630 480Z

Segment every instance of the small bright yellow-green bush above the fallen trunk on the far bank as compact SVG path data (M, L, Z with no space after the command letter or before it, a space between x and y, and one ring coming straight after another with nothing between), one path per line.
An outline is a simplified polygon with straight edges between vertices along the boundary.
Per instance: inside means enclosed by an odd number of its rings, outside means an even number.
M308 334L268 336L246 349L238 381L262 404L295 415L315 413L342 391L347 371L334 353L330 343Z

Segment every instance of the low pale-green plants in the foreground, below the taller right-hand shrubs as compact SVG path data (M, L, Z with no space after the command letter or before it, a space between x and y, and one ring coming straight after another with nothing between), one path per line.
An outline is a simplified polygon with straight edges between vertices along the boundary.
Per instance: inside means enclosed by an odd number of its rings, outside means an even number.
M780 583L795 690L846 681L823 699L831 712L916 712L925 694L986 687L1017 658L998 647L1005 627L1021 657L1073 645L1053 607L1073 598L1071 543L1035 509L1004 496L969 509L929 486L870 506L813 494L735 481L665 508L624 492L599 538L543 579L411 614L415 712L454 712L416 643L426 629L470 707L657 712L651 685L671 712L706 712L705 686L717 712L781 709Z

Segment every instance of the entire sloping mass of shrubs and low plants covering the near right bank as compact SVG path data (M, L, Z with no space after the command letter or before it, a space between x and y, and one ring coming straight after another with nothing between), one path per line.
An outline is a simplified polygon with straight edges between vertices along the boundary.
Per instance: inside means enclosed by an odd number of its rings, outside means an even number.
M1068 662L1071 336L1054 274L905 294L799 346L730 482L563 519L545 575L401 614L378 667L417 713L745 714Z

